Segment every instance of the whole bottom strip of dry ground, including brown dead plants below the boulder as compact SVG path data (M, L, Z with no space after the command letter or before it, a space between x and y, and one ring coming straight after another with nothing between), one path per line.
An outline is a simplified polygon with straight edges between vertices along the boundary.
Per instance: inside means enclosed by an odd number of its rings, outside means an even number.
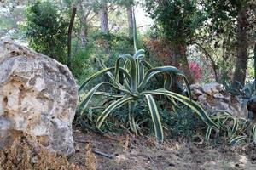
M165 144L156 148L154 138L134 138L129 133L111 134L109 138L74 130L73 136L76 153L67 160L66 156L56 155L23 135L0 150L0 170L256 169L256 148L252 144L228 147L166 139ZM113 158L95 155L92 150Z

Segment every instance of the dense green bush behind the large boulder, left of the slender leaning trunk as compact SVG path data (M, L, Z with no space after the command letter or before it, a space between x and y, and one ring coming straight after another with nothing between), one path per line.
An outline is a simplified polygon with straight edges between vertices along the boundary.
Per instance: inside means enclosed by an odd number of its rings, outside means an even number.
M26 24L22 27L30 47L66 63L67 26L55 3L38 1L26 9Z

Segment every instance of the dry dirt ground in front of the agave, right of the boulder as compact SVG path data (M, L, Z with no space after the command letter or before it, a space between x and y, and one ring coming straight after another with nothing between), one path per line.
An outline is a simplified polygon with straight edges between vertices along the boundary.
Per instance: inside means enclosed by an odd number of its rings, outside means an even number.
M230 147L167 140L160 148L154 138L131 134L106 136L73 132L76 153L69 161L80 169L99 170L231 170L256 169L256 146ZM97 154L96 152L100 152ZM93 154L95 153L95 154ZM102 156L101 154L107 154ZM85 167L87 166L87 168Z

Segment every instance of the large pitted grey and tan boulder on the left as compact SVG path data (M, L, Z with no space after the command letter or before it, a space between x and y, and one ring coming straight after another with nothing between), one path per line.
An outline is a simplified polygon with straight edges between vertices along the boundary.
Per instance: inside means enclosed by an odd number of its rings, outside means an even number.
M22 132L72 154L77 85L66 65L12 41L0 42L0 149Z

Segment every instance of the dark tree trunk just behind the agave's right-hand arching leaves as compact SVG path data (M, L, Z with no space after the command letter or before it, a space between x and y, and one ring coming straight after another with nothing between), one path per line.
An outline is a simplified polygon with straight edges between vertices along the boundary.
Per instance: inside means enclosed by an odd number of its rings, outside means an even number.
M190 84L195 83L195 78L191 74L189 68L189 61L186 56L186 46L185 45L176 45L174 47L174 65L182 70L185 76L188 78Z

